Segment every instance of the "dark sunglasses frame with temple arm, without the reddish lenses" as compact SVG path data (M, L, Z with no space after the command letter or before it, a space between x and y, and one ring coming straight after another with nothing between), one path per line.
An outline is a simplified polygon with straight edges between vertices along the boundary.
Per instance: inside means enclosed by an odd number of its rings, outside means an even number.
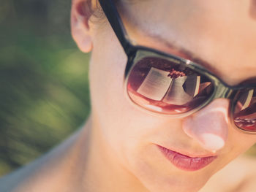
M198 110L201 110L203 107L206 107L214 99L220 99L220 98L230 99L230 105L229 105L229 108L230 108L229 116L231 119L230 122L233 123L233 126L235 126L236 129L238 129L239 131L242 131L245 134L256 134L256 132L246 131L236 126L233 118L236 102L238 101L238 99L236 98L238 91L241 91L243 89L255 88L256 84L249 83L247 85L230 86L230 85L227 85L225 82L223 82L219 77L209 72L206 68L204 68L200 64L196 64L193 61L180 58L176 55L155 50L154 48L151 48L151 47L145 47L145 46L133 44L133 42L129 39L127 31L124 27L124 23L121 21L121 16L119 15L113 0L99 0L99 4L102 7L102 10L105 13L106 18L108 19L110 26L113 28L113 31L115 32L116 37L118 38L119 42L121 43L121 46L124 49L124 52L127 55L127 66L124 72L124 89L125 89L126 96L129 98L129 101L131 101L132 104L134 104L140 110L149 112L151 115L153 114L153 115L168 116L171 118L184 118L189 115L192 115L192 113L197 112ZM141 59L141 58L146 58L148 56L150 57L156 56L157 58L164 58L168 61L176 61L178 62L178 64L184 65L189 69L195 70L195 72L202 74L203 76L211 80L211 82L213 82L214 84L213 93L206 101L203 102L203 104L200 104L198 107L195 107L195 109L190 110L188 112L184 112L182 114L177 114L177 115L168 115L168 114L153 112L150 110L146 110L143 107L140 107L140 105L135 104L135 102L133 102L132 99L129 97L127 93L127 81L128 81L129 73L132 71L133 66L135 66L136 64L135 61L137 61L138 58Z

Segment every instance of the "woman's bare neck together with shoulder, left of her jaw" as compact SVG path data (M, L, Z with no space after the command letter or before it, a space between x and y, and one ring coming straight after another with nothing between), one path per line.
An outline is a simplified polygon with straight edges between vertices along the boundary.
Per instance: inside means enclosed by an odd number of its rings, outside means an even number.
M89 118L82 129L61 145L7 177L4 188L13 191L15 187L19 192L146 192L137 178L118 164L109 148L99 127Z

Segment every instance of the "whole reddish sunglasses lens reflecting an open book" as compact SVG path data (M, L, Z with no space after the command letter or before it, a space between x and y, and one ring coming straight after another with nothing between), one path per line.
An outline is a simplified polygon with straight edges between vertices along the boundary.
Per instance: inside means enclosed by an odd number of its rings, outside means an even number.
M146 57L129 73L127 92L147 110L165 114L188 112L203 104L214 91L207 77L173 60Z

